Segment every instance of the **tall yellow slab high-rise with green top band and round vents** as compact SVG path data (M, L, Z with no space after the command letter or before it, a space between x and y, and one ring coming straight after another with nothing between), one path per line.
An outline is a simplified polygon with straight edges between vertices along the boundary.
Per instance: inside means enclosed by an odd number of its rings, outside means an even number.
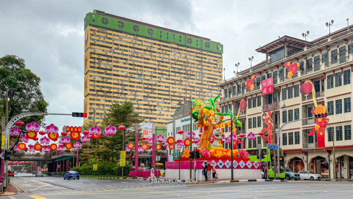
M218 95L218 42L98 10L86 15L84 30L84 123L130 100L144 122L166 130L180 100Z

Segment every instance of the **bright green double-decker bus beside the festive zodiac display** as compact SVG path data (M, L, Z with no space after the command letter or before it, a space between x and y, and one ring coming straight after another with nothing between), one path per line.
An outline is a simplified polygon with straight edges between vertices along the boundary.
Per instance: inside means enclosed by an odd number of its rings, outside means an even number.
M262 167L267 166L268 177L270 179L274 178L274 173L276 174L276 178L278 178L277 150L267 149L266 147L262 148L261 153L263 155L263 158L261 160L258 159L258 152L259 152L258 149L252 148L252 149L244 149L244 150L248 151L250 161L261 162ZM267 152L266 152L266 150L267 150ZM273 155L274 155L274 157L273 157ZM274 169L274 162L273 162L274 159L276 160L276 169ZM261 168L261 170L262 170L262 168ZM286 166L284 164L284 155L283 155L283 150L281 148L279 148L279 177L280 177L280 179L286 178Z

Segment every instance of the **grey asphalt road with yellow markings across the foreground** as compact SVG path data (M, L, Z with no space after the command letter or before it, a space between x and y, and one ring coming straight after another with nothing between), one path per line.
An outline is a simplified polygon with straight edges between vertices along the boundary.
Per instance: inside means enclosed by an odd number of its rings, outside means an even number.
M352 198L353 182L232 182L232 183L157 183L140 179L63 180L60 177L33 177L22 174L11 178L24 193L11 199L165 199L165 198ZM5 197L6 198L6 197Z

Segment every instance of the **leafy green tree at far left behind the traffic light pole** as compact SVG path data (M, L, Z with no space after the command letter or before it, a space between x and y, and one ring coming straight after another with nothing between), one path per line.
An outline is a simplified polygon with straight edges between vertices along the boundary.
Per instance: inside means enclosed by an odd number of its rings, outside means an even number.
M26 68L25 60L16 55L0 58L0 112L5 115L6 87L9 91L9 118L25 112L47 113L48 102L40 88L40 78ZM35 121L43 124L44 116L30 116L22 119L25 124Z

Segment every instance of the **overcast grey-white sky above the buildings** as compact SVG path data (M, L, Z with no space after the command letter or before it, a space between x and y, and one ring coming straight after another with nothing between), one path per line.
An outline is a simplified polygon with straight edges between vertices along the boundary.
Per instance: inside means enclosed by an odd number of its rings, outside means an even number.
M353 22L346 0L3 0L0 56L15 54L41 79L49 113L83 111L83 19L93 9L196 34L224 44L225 78L265 59L255 51L278 36L308 40ZM351 23L350 23L351 24ZM81 118L48 116L47 123L80 125Z

